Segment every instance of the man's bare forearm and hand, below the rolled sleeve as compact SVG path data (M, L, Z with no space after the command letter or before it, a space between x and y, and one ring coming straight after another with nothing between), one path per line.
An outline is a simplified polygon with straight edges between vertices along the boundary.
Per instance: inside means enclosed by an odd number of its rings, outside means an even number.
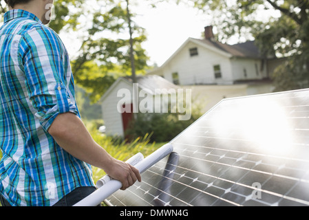
M136 179L141 181L138 170L134 166L111 157L93 140L81 119L73 113L57 115L48 132L67 153L88 164L102 168L110 177L121 181L122 190L133 185Z

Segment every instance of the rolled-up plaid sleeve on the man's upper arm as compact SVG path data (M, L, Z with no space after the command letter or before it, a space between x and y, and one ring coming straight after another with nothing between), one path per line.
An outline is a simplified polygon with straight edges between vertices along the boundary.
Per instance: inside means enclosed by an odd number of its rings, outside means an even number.
M78 115L70 91L72 72L65 47L58 35L45 26L32 28L20 41L19 63L25 85L41 126L47 131L59 113Z

